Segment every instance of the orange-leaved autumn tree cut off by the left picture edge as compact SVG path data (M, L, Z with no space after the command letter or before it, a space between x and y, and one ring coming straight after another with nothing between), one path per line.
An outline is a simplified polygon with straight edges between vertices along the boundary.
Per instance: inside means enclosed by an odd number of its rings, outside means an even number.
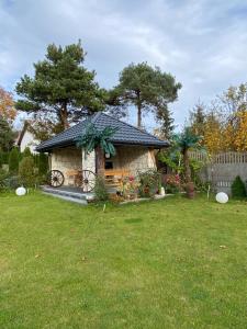
M14 107L14 100L11 92L5 91L0 87L0 116L5 120L9 124L12 124L15 116L16 110Z

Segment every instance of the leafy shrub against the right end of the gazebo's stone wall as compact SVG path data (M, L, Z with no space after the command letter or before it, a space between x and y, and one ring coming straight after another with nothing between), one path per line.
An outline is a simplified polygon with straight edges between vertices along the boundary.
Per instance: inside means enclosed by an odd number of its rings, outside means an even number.
M153 197L161 186L161 174L155 169L138 172L141 196Z

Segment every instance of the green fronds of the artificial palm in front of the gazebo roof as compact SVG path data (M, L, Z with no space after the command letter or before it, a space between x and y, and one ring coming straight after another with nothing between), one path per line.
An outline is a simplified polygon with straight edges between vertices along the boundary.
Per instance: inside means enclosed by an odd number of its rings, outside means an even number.
M100 147L105 154L114 156L115 148L110 141L110 138L115 134L116 131L116 127L111 126L99 131L92 123L89 123L86 127L86 133L76 139L77 147L85 149L85 156L89 155L97 147Z

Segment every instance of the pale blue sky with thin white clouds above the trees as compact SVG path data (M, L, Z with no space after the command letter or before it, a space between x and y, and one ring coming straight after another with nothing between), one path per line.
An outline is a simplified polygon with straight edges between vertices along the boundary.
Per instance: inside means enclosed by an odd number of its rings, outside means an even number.
M101 87L115 86L131 63L175 76L178 126L199 99L247 81L247 0L0 0L0 86L13 91L48 44L79 38ZM154 127L151 116L145 125Z

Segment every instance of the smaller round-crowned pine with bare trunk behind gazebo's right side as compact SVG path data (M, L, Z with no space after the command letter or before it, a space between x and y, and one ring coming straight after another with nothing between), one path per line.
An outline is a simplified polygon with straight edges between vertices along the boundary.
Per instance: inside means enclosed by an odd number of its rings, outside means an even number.
M131 64L120 73L119 84L110 91L109 103L122 109L134 105L137 126L142 128L145 112L151 111L161 121L168 116L168 104L177 100L180 88L175 77L158 67L153 68L147 63Z

